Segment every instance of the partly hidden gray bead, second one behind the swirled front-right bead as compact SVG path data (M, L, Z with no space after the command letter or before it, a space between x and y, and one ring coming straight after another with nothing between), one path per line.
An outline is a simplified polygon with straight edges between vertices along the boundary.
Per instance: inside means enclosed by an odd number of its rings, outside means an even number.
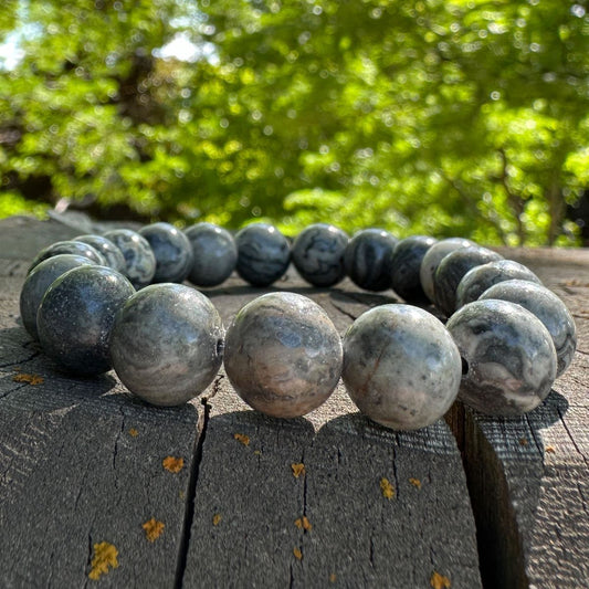
M476 301L494 284L508 280L522 280L541 284L540 278L524 264L513 260L498 260L469 270L456 288L456 308Z

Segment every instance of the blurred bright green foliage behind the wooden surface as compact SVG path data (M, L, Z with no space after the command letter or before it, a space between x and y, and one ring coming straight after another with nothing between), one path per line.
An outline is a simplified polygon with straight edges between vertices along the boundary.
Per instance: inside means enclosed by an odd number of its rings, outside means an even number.
M4 0L0 217L583 242L568 0Z

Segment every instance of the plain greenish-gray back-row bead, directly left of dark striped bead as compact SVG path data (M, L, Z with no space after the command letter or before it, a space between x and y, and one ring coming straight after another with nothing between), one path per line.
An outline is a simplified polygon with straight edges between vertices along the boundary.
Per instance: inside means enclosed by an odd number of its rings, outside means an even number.
M197 286L222 284L235 270L238 246L229 231L212 223L197 223L185 230L192 245L188 280Z

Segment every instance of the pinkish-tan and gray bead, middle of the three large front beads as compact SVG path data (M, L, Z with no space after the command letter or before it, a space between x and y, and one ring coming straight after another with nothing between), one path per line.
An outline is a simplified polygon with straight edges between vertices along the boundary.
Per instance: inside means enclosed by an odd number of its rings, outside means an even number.
M224 367L238 395L277 418L319 407L341 372L341 340L311 298L270 293L245 305L227 332Z

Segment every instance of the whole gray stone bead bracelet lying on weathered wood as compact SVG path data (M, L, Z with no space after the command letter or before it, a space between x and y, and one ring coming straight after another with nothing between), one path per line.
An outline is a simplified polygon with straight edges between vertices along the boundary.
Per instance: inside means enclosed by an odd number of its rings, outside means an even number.
M366 290L393 287L408 303L429 298L450 318L444 326L423 308L387 304L340 339L311 298L275 292L246 304L225 334L209 298L178 284L214 286L236 270L269 286L291 261L313 285L348 275ZM308 227L292 246L265 223L235 238L209 223L183 233L154 223L59 242L33 261L20 308L24 327L66 370L114 367L152 404L198 396L224 362L238 395L266 414L303 416L341 377L362 413L399 430L432 423L456 396L485 413L529 411L576 348L570 313L522 264L470 240L399 241L377 229L348 239L328 224Z

